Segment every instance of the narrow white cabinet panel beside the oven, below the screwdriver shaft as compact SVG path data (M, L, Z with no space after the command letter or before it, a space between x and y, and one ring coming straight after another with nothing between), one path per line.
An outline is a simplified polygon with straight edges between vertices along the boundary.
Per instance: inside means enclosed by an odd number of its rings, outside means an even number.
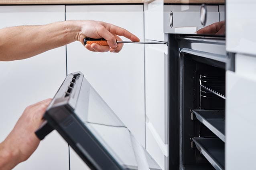
M145 45L145 108L161 140L168 142L168 57L166 45Z

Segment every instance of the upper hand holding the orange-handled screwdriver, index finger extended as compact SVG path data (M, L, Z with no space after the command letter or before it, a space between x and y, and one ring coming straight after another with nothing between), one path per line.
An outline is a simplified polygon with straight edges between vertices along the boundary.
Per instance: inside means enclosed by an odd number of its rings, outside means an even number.
M109 24L106 22L85 20L75 21L80 25L80 32L77 35L77 40L83 44L85 37L89 38L104 38L107 40L109 46L101 46L99 44L86 44L85 48L93 52L120 52L123 47L122 43L116 43L116 40L122 41L119 36L124 36L132 41L140 41L138 37L124 28ZM83 44L84 45L84 44Z

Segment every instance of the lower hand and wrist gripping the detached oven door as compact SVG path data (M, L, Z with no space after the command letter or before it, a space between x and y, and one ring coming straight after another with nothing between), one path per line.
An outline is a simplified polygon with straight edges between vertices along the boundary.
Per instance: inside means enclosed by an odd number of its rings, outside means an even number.
M7 138L0 144L0 170L10 170L27 160L39 145L35 131L42 124L43 114L51 99L26 107Z

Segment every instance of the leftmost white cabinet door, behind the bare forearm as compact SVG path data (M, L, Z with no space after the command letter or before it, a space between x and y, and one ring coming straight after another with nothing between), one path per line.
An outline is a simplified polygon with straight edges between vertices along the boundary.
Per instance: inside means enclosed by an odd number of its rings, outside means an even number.
M65 20L65 6L0 6L1 28L61 20ZM66 75L65 47L26 60L0 62L0 72L2 141L26 106L55 95ZM67 170L68 167L67 143L59 134L52 132L40 143L35 153L14 170Z

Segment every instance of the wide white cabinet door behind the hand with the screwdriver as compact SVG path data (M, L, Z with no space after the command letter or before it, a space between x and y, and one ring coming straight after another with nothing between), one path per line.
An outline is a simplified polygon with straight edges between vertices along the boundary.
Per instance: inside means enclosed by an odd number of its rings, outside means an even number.
M144 40L142 5L66 6L66 20L109 22ZM124 44L119 53L98 53L86 50L80 42L71 43L67 45L67 70L81 71L135 138L145 145L143 44ZM73 166L76 164L73 162L81 161L75 159L80 158L72 158L71 154L71 169L84 169Z

